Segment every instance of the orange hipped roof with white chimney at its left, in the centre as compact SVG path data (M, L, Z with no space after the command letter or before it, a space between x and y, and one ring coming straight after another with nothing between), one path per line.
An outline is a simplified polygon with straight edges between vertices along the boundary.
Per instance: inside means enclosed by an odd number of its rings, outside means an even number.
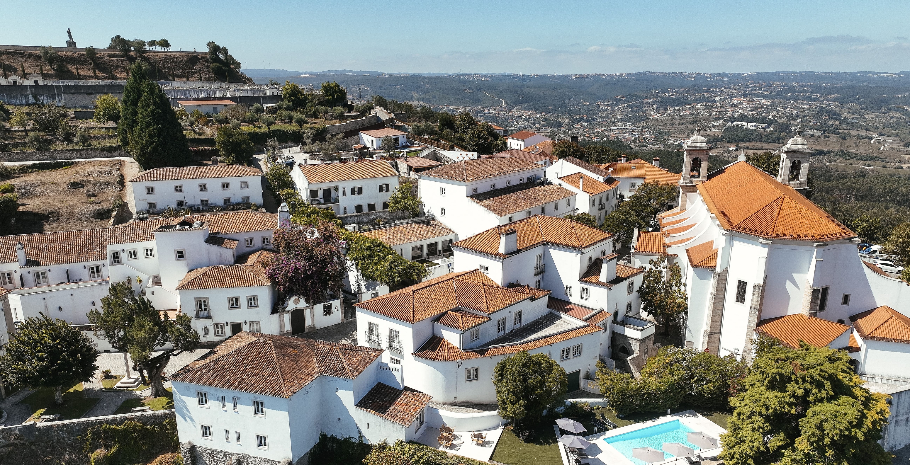
M571 219L535 215L508 225L491 227L452 246L505 258L508 256L500 253L500 235L508 229L516 231L519 252L545 243L577 249L588 248L613 236L611 233L582 225Z

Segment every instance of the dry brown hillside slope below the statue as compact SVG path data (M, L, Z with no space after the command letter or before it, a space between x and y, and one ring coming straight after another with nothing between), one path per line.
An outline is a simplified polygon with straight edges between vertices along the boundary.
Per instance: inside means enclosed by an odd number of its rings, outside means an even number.
M57 66L54 71L44 64L45 79L95 79L92 74L92 64L82 52L57 52L63 63ZM187 73L190 81L198 81L199 73L202 73L203 81L223 80L224 76L216 79L208 69L208 56L200 52L194 54L168 54L148 52L141 58L135 54L123 56L120 53L99 53L96 57L96 73L98 79L108 80L111 76L114 79L126 79L126 66L135 63L137 59L149 64L149 76L153 79L162 81L187 80ZM18 50L0 50L0 69L7 76L22 74L22 66L25 66L25 74L38 73L41 62L41 54L37 51L22 52ZM78 70L78 75L76 74ZM24 76L20 76L24 77ZM236 70L231 70L230 82L253 83L249 77L239 74Z

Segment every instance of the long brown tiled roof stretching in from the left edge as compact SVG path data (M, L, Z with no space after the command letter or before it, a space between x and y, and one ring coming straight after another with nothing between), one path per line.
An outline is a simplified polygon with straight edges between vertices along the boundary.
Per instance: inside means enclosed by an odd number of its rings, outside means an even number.
M25 246L29 267L106 261L108 245L155 240L157 227L176 225L185 219L190 223L194 220L204 221L211 235L265 231L278 227L276 213L239 210L188 217L141 219L115 227L0 236L0 263L16 262L15 245L18 242Z

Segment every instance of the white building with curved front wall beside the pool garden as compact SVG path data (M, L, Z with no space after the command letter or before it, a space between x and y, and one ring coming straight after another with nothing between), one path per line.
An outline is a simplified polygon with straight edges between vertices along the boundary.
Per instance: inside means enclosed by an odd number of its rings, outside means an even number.
M579 389L596 370L609 314L586 320L551 308L549 295L501 287L476 269L449 273L357 304L358 344L387 349L383 360L401 367L404 383L440 403L496 402L493 368L521 350L549 354Z

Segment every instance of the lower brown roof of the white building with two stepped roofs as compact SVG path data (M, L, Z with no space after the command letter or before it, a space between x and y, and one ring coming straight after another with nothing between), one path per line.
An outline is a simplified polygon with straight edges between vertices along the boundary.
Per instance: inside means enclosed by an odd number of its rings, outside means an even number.
M553 184L534 186L532 183L522 183L516 186L488 190L469 196L471 200L484 207L497 217L505 217L518 213L528 208L540 207L551 202L559 202L561 208L566 208L562 200L575 196L571 190ZM553 207L547 208L554 211ZM555 210L559 211L559 210Z

